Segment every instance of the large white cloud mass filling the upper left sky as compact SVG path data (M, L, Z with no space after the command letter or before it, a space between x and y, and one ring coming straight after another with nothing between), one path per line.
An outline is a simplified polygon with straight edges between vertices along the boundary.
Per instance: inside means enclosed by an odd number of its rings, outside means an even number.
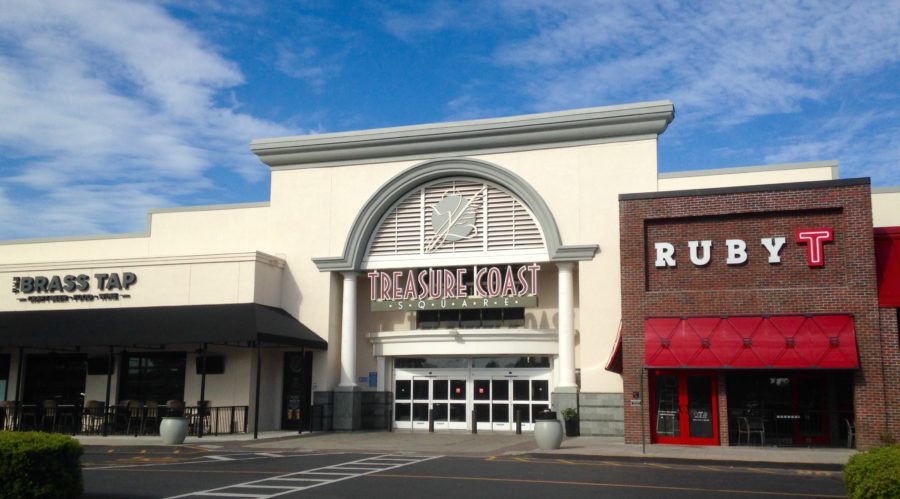
M0 239L140 230L216 167L265 179L249 140L297 133L223 99L240 69L157 5L0 12Z

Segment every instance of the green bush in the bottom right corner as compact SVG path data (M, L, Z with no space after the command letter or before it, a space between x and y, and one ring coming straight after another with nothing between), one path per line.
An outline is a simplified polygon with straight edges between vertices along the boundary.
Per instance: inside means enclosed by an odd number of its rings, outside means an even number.
M844 484L851 499L900 497L900 445L860 452L844 467Z

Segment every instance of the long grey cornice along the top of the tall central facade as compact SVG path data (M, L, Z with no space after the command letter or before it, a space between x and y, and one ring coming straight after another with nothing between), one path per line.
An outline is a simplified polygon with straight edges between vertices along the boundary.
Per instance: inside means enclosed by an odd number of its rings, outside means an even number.
M506 118L254 140L273 170L548 149L655 139L675 118L671 101L594 107Z

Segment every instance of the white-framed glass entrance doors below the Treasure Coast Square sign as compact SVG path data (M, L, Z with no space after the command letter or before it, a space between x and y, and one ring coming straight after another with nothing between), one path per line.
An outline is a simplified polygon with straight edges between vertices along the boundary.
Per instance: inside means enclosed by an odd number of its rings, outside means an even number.
M417 357L394 361L394 428L534 429L550 406L549 357ZM430 412L430 414L429 414Z

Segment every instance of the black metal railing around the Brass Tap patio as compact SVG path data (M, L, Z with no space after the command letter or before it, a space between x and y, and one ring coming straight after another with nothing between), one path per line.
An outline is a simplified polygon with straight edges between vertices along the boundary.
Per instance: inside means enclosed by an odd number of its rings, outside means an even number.
M166 406L85 406L60 404L48 409L40 404L7 403L0 406L0 429L39 430L71 435L159 435L162 418L183 416L191 435L223 435L247 432L247 406L188 406L170 411ZM170 414L171 413L171 414Z

